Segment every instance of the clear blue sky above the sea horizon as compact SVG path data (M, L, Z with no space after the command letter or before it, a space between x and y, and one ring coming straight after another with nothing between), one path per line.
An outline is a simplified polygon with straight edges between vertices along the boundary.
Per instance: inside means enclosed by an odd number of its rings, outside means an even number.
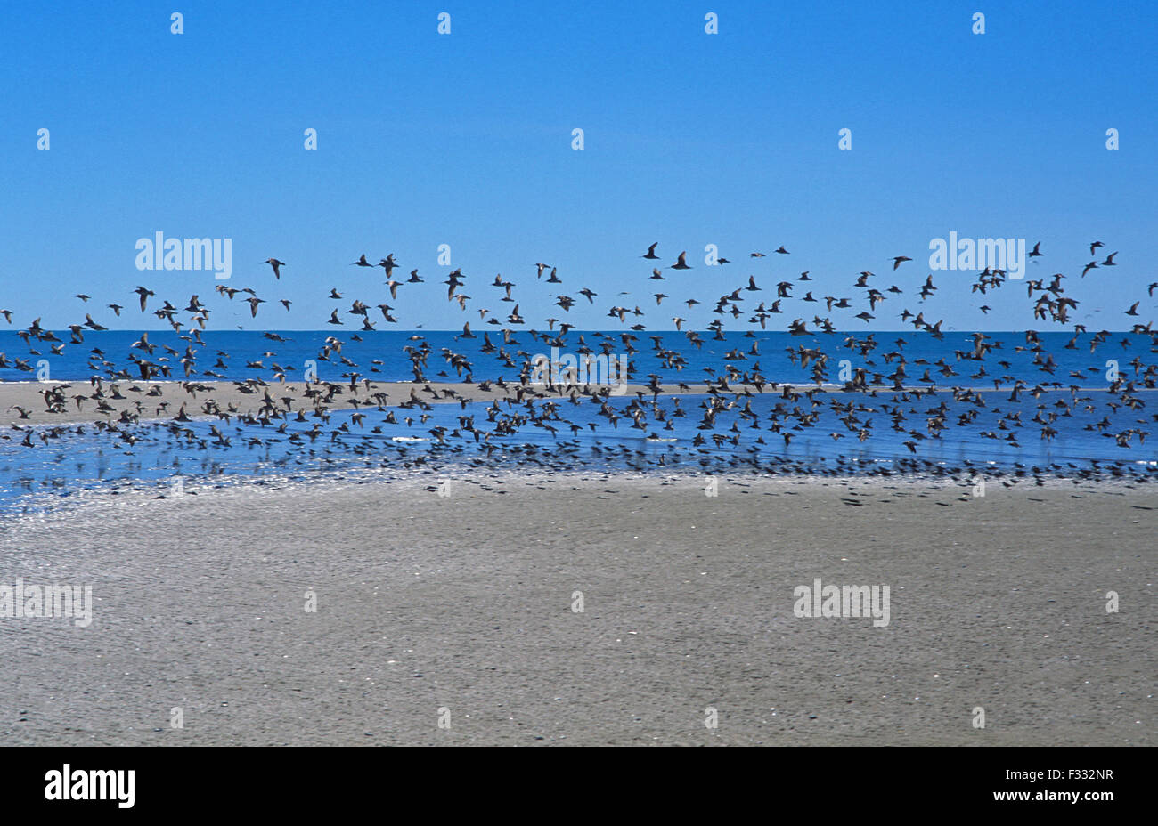
M851 318L865 308L836 311L840 327L896 330L909 308L946 329L1053 329L1033 322L1024 286L980 296L960 272L935 274L940 290L918 305L929 242L953 230L1042 241L1028 278L1065 273L1075 320L1126 329L1130 303L1143 322L1158 307L1145 296L1158 280L1156 23L1149 2L6 2L0 307L13 327L86 311L155 327L103 309L132 307L142 283L178 307L199 294L211 326L317 329L349 308L325 300L336 287L390 303L402 327L457 329L478 325L476 308L506 311L486 286L501 273L529 324L617 327L604 315L623 303L659 330L675 315L702 327L749 274L758 298L808 270L816 297L859 303L852 282L871 270L904 295L872 327ZM308 127L317 150L303 148ZM232 238L223 283L270 302L257 324L213 293L212 273L138 272L135 241L156 231ZM1093 239L1119 266L1078 285ZM658 264L688 250L695 268L650 281L639 256L657 241ZM734 263L705 267L709 243ZM466 273L466 314L439 283L439 244ZM780 244L790 256L748 258ZM381 271L346 266L362 252L393 252L427 283L391 301ZM893 278L899 255L914 261ZM288 263L280 282L258 264L270 256ZM563 314L537 261L595 304ZM658 309L657 283L670 296ZM689 297L706 307L689 312ZM772 322L816 307L786 302Z

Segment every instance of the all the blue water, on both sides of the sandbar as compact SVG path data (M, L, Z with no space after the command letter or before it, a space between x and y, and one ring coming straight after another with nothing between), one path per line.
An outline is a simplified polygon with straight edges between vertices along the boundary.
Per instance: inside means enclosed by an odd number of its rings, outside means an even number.
M528 332L514 333L507 344L503 342L501 334L491 335L496 351L505 351L505 355L481 352L484 342L481 333L477 339L462 339L453 332L373 332L359 333L361 340L351 333L339 333L336 338L343 342L340 355L357 364L351 367L336 361L337 355L328 362L317 360L327 337L335 335L329 331L274 334L286 340L274 341L252 331L203 333L205 346L195 347L197 368L190 378L242 381L257 377L272 383L276 362L285 368L287 381L300 382L306 361L313 359L323 381L345 382L347 378L342 374L351 371L373 381L411 381L415 377L412 363L403 348L419 347L425 341L431 353L424 377L432 383L460 381L457 371L445 361L444 348L447 354L466 356L476 382L499 376L511 381L518 375L518 367L512 367L512 362L519 366L529 355L550 353L549 346L533 340ZM603 334L623 344L618 332ZM96 433L93 425L37 426L34 429L37 436L54 428L56 437L47 441L37 437L34 448L22 445L23 434L15 432L7 432L9 437L0 440L0 506L12 504L25 494L49 493L61 497L118 481L155 482L163 491L175 477L196 487L270 474L305 479L358 469L416 466L858 473L955 469L968 464L972 469L994 472L1033 472L1034 467L1050 472L1053 467L1055 474L1068 474L1089 469L1091 463L1101 463L1115 466L1115 473L1158 474L1158 450L1153 447L1158 440L1142 441L1144 436L1135 434L1129 447L1121 447L1114 437L1131 428L1143 433L1150 430L1155 421L1150 399L1155 391L1139 382L1135 396L1144 406L1124 408L1120 405L1121 397L1107 391L1106 377L1107 362L1114 360L1124 378L1136 379L1151 361L1153 351L1149 337L1115 333L1091 353L1092 337L1089 334L1079 335L1075 347L1068 349L1065 345L1072 334L1041 333L1041 355L1051 355L1056 362L1050 374L1034 363L1035 353L1026 349L1025 333L987 333L995 349L983 362L958 359L957 353L972 352L974 342L970 333L960 332L947 332L943 340L926 333L877 333L874 339L879 346L867 355L859 346L865 334L853 335L851 347L846 341L849 333L792 337L774 332L750 338L743 333L725 333L723 341L712 340L711 333L699 333L701 347L694 346L683 333L655 333L658 342L648 333L636 335L633 344L638 352L630 355L631 381L642 383L648 375L657 375L661 382L689 384L721 375L726 364L740 373L756 370L758 364L758 373L772 382L813 383L813 366L801 368L799 361L793 363L789 359L787 351L798 352L800 347L828 355L828 382L837 379L842 359L853 368L866 368L870 376L873 373L887 375L895 362L887 364L884 354L897 351L896 339L901 338L904 340L901 352L909 362L906 383L923 386L918 379L930 369L930 377L937 379L938 392L902 401L894 401L896 393L892 391L878 391L875 396L823 392L813 397L814 403L807 396L786 399L779 389L769 390L720 410L711 429L701 427L708 396L683 396L676 401L660 394L653 407L650 393L643 401L635 396L610 397L608 406L618 416L614 425L599 415L599 405L589 400L573 405L565 398L555 398L532 401L529 406L528 403L520 406L476 401L466 406L431 405L425 411L393 407L390 411L396 416L393 425L386 421L387 412L375 408L362 408L360 413L365 420L360 423L352 421L351 411L331 411L330 421L324 425L307 414L306 421L287 421L284 433L278 433L276 425L244 425L236 419L184 423L142 421L122 427L119 436ZM67 332L58 337L68 340ZM9 362L17 354L34 366L38 359L45 359L51 381L87 384L94 373L108 378L125 367L133 368L126 356L133 341L139 339L139 331L86 333L83 345L66 345L60 355L37 356L23 355L28 353L28 345L13 333L3 332L0 333L0 352L7 354ZM166 354L170 357L168 363L178 368L171 377L184 378L177 359L190 342L173 331L151 332L148 340L159 348L153 355L142 356L162 363L163 346L168 345L178 354ZM596 353L602 352L599 334L591 331L571 331L562 352L580 352L580 340ZM34 345L47 351L43 342L34 341ZM754 345L755 354L752 353ZM101 349L100 361L108 364L90 361L93 347ZM520 351L525 355L519 355ZM270 353L273 355L267 355ZM225 367L213 368L219 354L228 354L227 357L220 355ZM674 357L683 360L682 369L676 369ZM1131 367L1136 357L1141 361ZM375 360L380 363L375 364ZM918 363L919 360L928 364ZM959 375L941 375L936 363L941 360ZM1003 360L1007 367L998 363ZM970 378L982 364L989 375ZM206 370L217 375L205 375ZM1071 376L1071 371L1080 377ZM1020 378L1028 388L1049 381L1063 386L1043 392L1039 398L1023 391L1014 400L1010 392L1012 379L1002 381L1002 389L994 390L991 379L1003 376ZM27 371L0 369L2 381L32 377ZM145 386L140 381L135 383ZM979 389L983 406L975 399L955 400L947 390L951 385ZM1071 385L1080 389L1073 391ZM723 393L721 398L733 399L731 393ZM1075 398L1078 403L1069 404ZM834 410L834 401L840 403L842 410ZM629 408L633 404L645 410L639 426L633 426ZM679 415L677 411L684 415ZM779 414L774 419L777 411ZM801 423L801 413L814 413L815 418ZM897 413L903 415L900 423L903 429L900 430L892 427ZM489 416L494 421L489 421ZM1042 421L1033 421L1035 416ZM494 430L496 421L511 422L515 418L519 426L508 435ZM481 433L491 432L489 438L481 435L476 440L466 429L464 423L471 419ZM937 427L940 421L945 422L943 428ZM336 430L344 422L349 430ZM1042 436L1045 422L1056 432L1049 438ZM865 430L870 435L862 441L858 434ZM913 432L924 437L915 437ZM789 442L785 442L785 434L790 436ZM697 437L703 440L702 444L696 443Z

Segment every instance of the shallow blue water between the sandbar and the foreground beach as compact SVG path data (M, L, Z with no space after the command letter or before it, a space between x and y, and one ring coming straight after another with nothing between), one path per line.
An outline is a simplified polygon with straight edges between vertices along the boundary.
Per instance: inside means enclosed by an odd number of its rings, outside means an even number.
M1120 447L1112 434L1124 428L1121 421L1115 427L1097 429L1095 425L1107 415L1115 421L1106 404L1117 397L1105 391L1078 396L1085 400L1071 414L1054 419L1050 427L1057 435L1049 440L1041 436L1042 425L1031 420L1039 413L1039 405L1043 416L1055 410L1067 412L1067 407L1054 404L1058 399L1069 401L1068 391L1045 393L1040 399L1023 394L1018 401L1011 401L1007 391L990 391L981 393L983 407L954 401L947 393L899 405L891 401L892 393L877 397L816 393L814 398L821 401L816 406L806 396L786 400L779 393L765 393L720 410L712 429L701 429L703 405L709 399L705 394L660 396L655 407L648 396L639 405L646 411L643 427L632 425L630 406L636 403L635 397L608 400L609 408L618 416L615 425L599 415L600 407L589 400L573 405L555 399L540 400L530 407L526 403L476 401L466 407L435 404L428 411L362 408L361 426L351 425L352 411L334 411L329 423L307 415L305 421L286 422L285 433L278 433L274 426L201 419L129 426L123 428L118 441L110 434L96 433L91 425L57 426L57 437L45 443L37 436L35 448L23 447L16 440L0 442L0 504L14 504L32 493L68 496L110 482L155 484L163 493L178 477L182 485L196 487L230 478L305 477L359 467L413 466L416 462L431 467L485 463L557 470L760 469L780 473L902 472L948 470L967 464L995 473L1034 466L1045 471L1050 465L1072 472L1099 463L1121 464L1121 472L1130 474L1158 475L1155 442L1139 443L1133 436L1130 447ZM831 401L840 403L843 410L833 410ZM657 408L666 421L657 418ZM676 415L677 410L686 415ZM777 410L782 412L777 416L780 433L770 429L771 414ZM906 416L903 432L892 428L897 410ZM494 421L489 421L489 411L494 412ZM816 418L805 427L799 423L797 412L808 411ZM849 411L855 419L848 418ZM394 413L395 423L386 421L388 412ZM541 423L526 420L510 435L494 433L498 422L529 413ZM969 423L955 423L959 416L973 413L976 416ZM930 421L937 419L946 422L939 435L929 428ZM492 434L489 440L483 435L476 441L466 429L471 420L479 432ZM332 435L344 422L350 430ZM1142 425L1137 427L1145 429ZM858 432L866 428L868 435L860 441ZM34 433L52 429L44 426ZM916 438L910 432L925 437ZM833 438L834 433L841 438ZM787 444L784 434L791 436ZM1011 434L1016 443L1007 441ZM702 444L695 443L697 436ZM916 452L904 444L907 441L914 443Z

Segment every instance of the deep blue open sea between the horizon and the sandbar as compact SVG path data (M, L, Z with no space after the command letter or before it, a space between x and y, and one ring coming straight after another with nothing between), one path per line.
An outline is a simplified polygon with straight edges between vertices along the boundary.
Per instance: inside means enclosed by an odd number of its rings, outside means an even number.
M494 352L483 353L486 333ZM545 332L548 335L556 335L557 332ZM280 366L286 371L287 381L301 381L306 369L306 362L314 360L317 367L317 377L322 381L342 382L343 374L352 371L359 373L361 377L372 381L401 382L415 378L410 359L406 355L406 347L422 347L426 342L431 348L427 359L427 369L424 377L432 382L461 381L462 376L449 366L447 355L459 353L467 357L474 368L474 378L496 378L504 376L512 378L518 374L514 364L535 354L550 355L550 346L542 339L535 340L530 330L518 331L512 335L510 344L504 344L504 337L497 329L477 330L476 338L462 338L461 333L447 331L374 331L374 332L350 332L350 331L221 331L210 330L200 332L204 346L191 338L188 332L174 330L148 331L148 342L156 346L156 351L148 355L139 348L133 348L133 342L140 340L141 331L132 330L109 330L102 332L86 331L85 340L81 344L69 342L69 332L58 332L65 346L60 354L50 351L46 342L36 342L39 353L31 353L14 331L0 331L0 353L6 353L9 361L15 359L24 360L34 373L22 371L15 367L0 368L0 382L8 381L31 381L36 378L35 369L42 362L46 362L49 377L56 382L88 381L94 374L111 376L115 370L127 370L129 376L140 381L139 369L129 360L130 355L135 355L151 360L169 369L168 376L156 378L168 378L171 381L189 378L192 381L243 381L250 377L274 381L274 364ZM277 335L284 340L270 339L267 335ZM926 332L895 331L875 332L872 339L877 342L877 348L870 354L862 354L860 344L866 341L870 333L835 332L820 333L815 335L791 335L783 331L768 332L754 331L749 337L741 332L725 332L723 340L714 340L710 332L698 332L696 335L702 340L701 346L695 346L689 341L687 333L666 332L623 332L623 331L579 331L571 330L563 341L560 352L581 353L586 346L596 354L602 353L601 335L610 340L610 352L614 354L628 353L623 335L635 338L632 345L638 353L630 355L633 367L633 379L647 381L648 375L659 375L662 382L683 381L688 383L703 381L705 376L717 376L723 371L725 363L732 363L740 371L753 369L758 363L764 376L776 382L808 382L812 381L812 367L801 368L799 362L793 363L789 359L789 349L815 348L828 354L829 375L835 381L838 370L838 362L848 359L853 368L866 367L866 361L877 363L877 371L882 374L892 373L893 366L885 362L884 354L901 352L908 359L910 379L919 378L923 366L916 364L921 359L930 363L944 359L953 366L960 376L946 377L933 374L938 379L938 385L950 386L989 384L991 377L1010 375L1021 378L1031 385L1045 381L1060 381L1070 384L1070 371L1078 371L1085 378L1073 379L1083 386L1087 384L1107 385L1105 373L1107 361L1115 360L1119 366L1127 364L1134 359L1141 359L1144 364L1149 364L1156 352L1150 337L1133 333L1111 333L1108 339L1097 346L1091 352L1092 333L1082 333L1076 338L1069 332L1041 332L1038 333L1041 347L1045 353L1053 355L1056 369L1051 375L1042 373L1033 362L1034 353L1026 348L1027 339L1024 332L987 332L987 344L991 344L992 349L984 362L958 362L955 352L972 352L974 348L974 333L950 331L944 333L944 338L936 339ZM327 339L342 342L340 354L331 354L328 360L318 360ZM658 342L655 341L658 339ZM851 339L851 342L850 342ZM903 340L902 345L897 340ZM1065 345L1071 340L1073 348ZM1124 344L1123 344L1124 342ZM658 346L657 346L658 344ZM753 346L756 353L753 354ZM186 347L192 347L196 355L196 364L186 371L181 363L181 357ZM94 348L98 354L94 354ZM168 348L168 351L166 349ZM676 363L662 355L664 352L677 353L682 361ZM526 355L520 355L523 353ZM735 353L739 357L728 359L728 354ZM345 356L353 361L357 367L350 367L339 361ZM1010 362L1009 368L997 364L999 360ZM104 362L111 363L111 367ZM976 368L984 364L990 376L973 382L968 376L976 371ZM963 364L963 367L962 367ZM973 368L973 369L968 369ZM1133 370L1121 368L1123 375L1129 377ZM711 373L706 373L710 370Z

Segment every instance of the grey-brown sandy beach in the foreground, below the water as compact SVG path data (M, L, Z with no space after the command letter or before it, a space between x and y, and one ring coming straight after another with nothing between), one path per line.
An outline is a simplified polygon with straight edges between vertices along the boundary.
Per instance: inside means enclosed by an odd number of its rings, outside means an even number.
M717 484L416 474L5 517L0 584L95 607L0 619L0 740L1158 744L1148 487ZM816 578L888 585L888 624L794 615Z

